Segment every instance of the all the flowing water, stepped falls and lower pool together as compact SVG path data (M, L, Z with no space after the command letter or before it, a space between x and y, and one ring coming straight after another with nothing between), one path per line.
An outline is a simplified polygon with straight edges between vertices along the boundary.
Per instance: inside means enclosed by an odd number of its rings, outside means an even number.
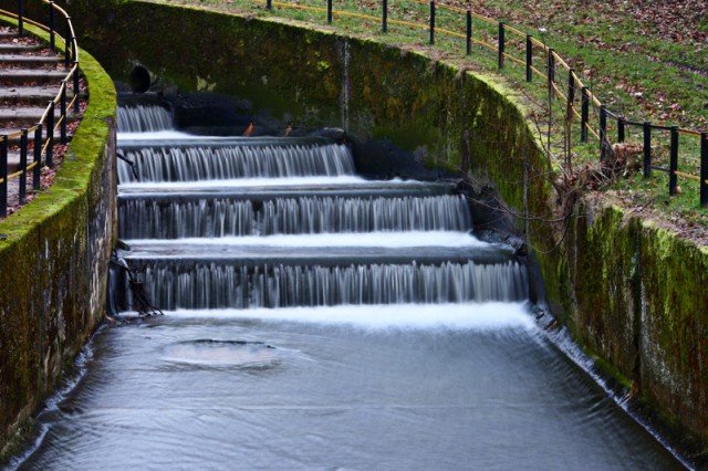
M124 129L119 255L166 315L96 334L20 468L680 468L451 185L363 180L324 139Z

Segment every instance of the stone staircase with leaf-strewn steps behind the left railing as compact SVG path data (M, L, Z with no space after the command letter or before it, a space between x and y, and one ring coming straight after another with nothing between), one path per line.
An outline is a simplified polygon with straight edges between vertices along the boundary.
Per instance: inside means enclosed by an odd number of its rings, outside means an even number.
M67 70L63 56L52 51L48 44L31 35L19 36L14 28L0 27L0 135L13 135L22 128L37 124L43 116L49 102L60 92ZM73 97L70 85L67 102ZM54 117L60 117L60 106L55 106ZM71 121L71 112L69 113ZM30 144L32 135L29 136ZM46 137L46 129L43 130ZM60 133L54 133L59 143ZM8 174L20 169L20 137L9 138ZM28 163L32 161L31 150ZM31 177L28 185L31 185ZM28 192L31 188L28 188ZM19 180L9 181L8 205L17 205Z

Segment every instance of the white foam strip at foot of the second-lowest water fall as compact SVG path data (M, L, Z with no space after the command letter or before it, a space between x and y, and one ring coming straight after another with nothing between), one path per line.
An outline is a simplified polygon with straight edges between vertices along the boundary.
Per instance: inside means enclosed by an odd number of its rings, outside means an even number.
M247 236L185 239L132 239L128 245L233 245L233 247L489 247L467 232L409 231L409 232L352 232L306 233L277 236Z

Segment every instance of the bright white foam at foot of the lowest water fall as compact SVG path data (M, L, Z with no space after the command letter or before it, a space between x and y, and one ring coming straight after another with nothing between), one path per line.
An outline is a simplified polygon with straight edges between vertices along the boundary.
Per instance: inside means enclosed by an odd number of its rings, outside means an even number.
M528 303L450 303L339 305L322 307L280 307L252 310L177 310L165 315L184 318L252 318L269 322L298 322L352 325L362 328L412 328L498 331L537 325Z

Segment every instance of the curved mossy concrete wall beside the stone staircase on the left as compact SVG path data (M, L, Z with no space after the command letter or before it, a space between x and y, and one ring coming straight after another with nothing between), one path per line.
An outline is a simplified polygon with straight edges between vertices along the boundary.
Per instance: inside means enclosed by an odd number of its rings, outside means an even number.
M80 54L88 103L54 184L0 221L0 449L54 390L104 311L116 97L101 65Z

